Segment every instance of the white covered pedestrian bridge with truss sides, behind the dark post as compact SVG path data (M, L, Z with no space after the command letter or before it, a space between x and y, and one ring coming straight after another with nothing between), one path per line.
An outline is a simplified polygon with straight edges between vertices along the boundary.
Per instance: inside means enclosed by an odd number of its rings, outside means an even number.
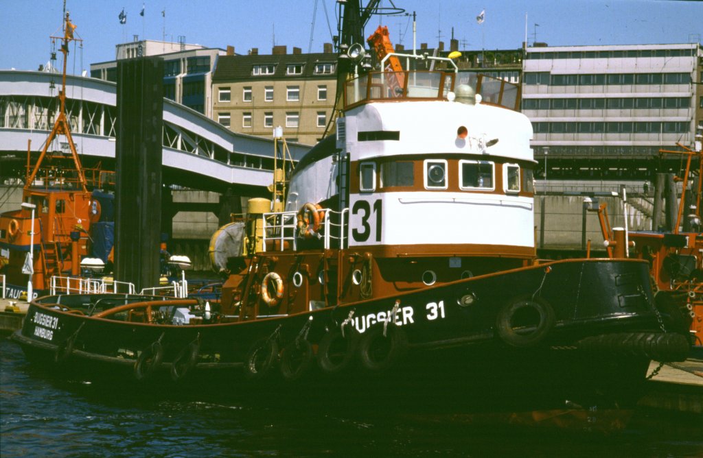
M23 166L27 140L41 150L53 126L61 75L0 70L0 176L3 164ZM117 85L86 77L66 77L66 114L84 163L114 164ZM165 180L202 190L261 188L272 181L273 138L233 133L212 119L164 100ZM51 150L67 148L58 139ZM293 160L309 146L288 144ZM8 160L15 157L14 161ZM19 159L21 158L21 159ZM87 160L86 160L87 159Z

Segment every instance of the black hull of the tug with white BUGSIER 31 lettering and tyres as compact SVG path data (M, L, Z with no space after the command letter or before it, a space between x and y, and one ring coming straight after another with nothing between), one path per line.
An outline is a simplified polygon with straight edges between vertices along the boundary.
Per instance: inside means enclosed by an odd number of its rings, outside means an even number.
M49 372L120 384L320 393L333 383L337 395L364 386L363 393L534 400L637 393L651 359L688 353L685 338L667 332L668 320L654 306L647 263L580 260L215 325L106 320L33 303L13 339Z

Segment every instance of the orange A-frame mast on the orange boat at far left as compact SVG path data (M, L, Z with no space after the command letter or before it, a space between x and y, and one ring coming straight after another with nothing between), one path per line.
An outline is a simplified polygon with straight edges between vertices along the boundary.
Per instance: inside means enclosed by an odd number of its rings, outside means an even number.
M65 13L63 37L51 37L51 39L60 39L62 41L61 52L63 53L63 73L61 75L61 90L58 92L59 112L56 116L56 122L54 122L53 124L53 129L51 129L51 133L49 133L49 138L46 139L46 142L44 143L44 148L41 150L39 159L37 159L37 164L34 164L34 169L32 169L32 172L29 174L29 176L27 176L27 179L25 181L25 190L28 190L32 187L32 182L37 176L37 173L39 172L39 167L41 166L41 163L44 162L44 159L65 159L63 155L55 155L52 152L49 152L49 154L47 155L47 151L49 150L49 146L51 145L53 139L56 138L56 136L58 135L63 135L66 137L68 146L71 150L73 164L76 169L77 179L80 188L83 190L83 192L88 192L86 188L87 182L83 171L83 166L81 164L81 159L78 156L78 152L76 151L76 145L75 143L73 143L70 125L68 124L68 119L66 117L66 65L68 60L68 44L70 43L70 41L82 41L81 39L74 37L73 32L75 31L75 29L76 26L73 25L69 19L69 13ZM29 171L29 169L27 169L27 171Z

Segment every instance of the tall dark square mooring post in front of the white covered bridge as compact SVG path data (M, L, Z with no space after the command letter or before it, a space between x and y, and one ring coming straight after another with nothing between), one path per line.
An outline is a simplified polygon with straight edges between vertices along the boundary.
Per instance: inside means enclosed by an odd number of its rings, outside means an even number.
M160 277L162 58L117 62L115 278L137 290Z

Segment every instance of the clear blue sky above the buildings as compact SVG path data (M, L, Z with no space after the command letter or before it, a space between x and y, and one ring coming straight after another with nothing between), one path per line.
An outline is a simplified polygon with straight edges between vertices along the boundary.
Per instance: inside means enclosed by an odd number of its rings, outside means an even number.
M362 1L363 4L367 0ZM273 44L321 52L336 34L335 0L66 0L81 48L71 48L68 72L115 60L115 45L139 39L179 41L209 48L234 46L245 54ZM460 49L515 49L525 39L550 46L671 44L703 41L703 1L683 0L381 0L404 15L374 16L365 34L387 25L394 44L413 44L411 15L417 13L418 48L440 40ZM139 14L144 7L143 17ZM118 16L124 8L127 22ZM162 11L164 12L162 15ZM479 25L476 17L484 13ZM63 0L0 0L4 38L0 70L37 70L51 53L49 36L61 34ZM535 37L536 35L536 37ZM58 61L60 65L60 60Z

